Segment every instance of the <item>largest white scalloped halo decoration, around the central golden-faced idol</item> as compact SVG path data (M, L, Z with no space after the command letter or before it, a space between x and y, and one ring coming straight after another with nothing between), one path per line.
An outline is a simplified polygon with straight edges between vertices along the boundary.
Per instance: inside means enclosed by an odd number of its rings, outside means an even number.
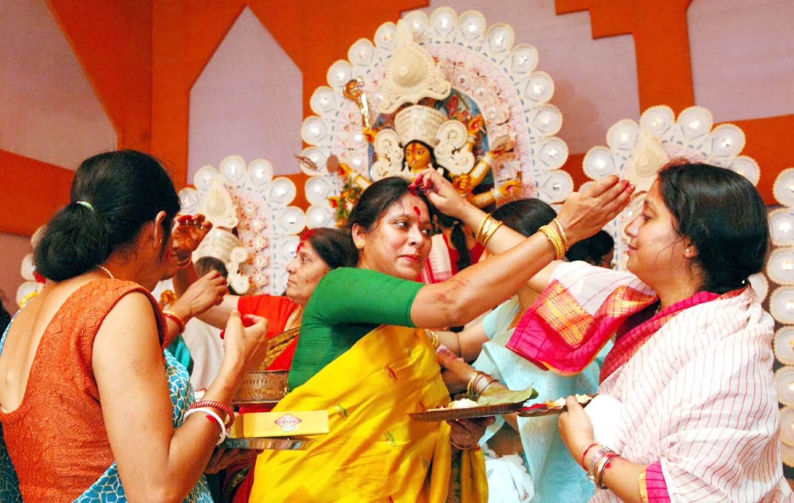
M357 40L350 46L347 60L337 60L329 67L328 86L318 87L310 98L314 115L303 121L301 136L308 147L302 155L322 167L333 154L370 180L404 174L407 138L387 132L387 126L371 146L364 135L359 106L345 98L345 85L360 79L357 92L366 94L368 120L375 128L379 128L379 118L388 121L387 115L401 103L416 103L422 97L460 99L472 115L479 113L484 119L482 148L492 151L513 146L510 154L496 159L491 167L496 186L521 175L522 186L516 197L565 200L573 182L560 168L569 151L565 142L554 136L562 126L562 114L549 103L554 82L547 73L537 70L538 50L530 44L516 44L510 25L488 25L476 10L458 14L450 7L441 7L430 15L414 10L398 24L389 21L380 25L372 40ZM410 29L410 40L406 28ZM407 61L404 72L400 69L403 61ZM433 77L439 74L441 81ZM422 87L425 91L419 93ZM444 109L438 112L445 120L454 120ZM434 141L438 140L434 145L437 163L453 175L466 172L466 167L471 169L476 163L467 149L458 147L461 131L456 126L442 130L439 125L434 135ZM312 178L305 189L306 198L312 202L306 212L311 215L309 225L334 225L334 210L319 194L341 194L341 178L303 165L302 169ZM322 215L328 219L323 221Z

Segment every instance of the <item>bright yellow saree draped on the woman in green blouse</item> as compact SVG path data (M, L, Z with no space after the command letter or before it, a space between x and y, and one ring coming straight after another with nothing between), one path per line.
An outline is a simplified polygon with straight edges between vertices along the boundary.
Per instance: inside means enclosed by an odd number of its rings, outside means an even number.
M433 347L381 325L291 393L279 410L328 410L330 433L306 451L265 451L249 501L447 501L449 424L407 413L449 402ZM482 451L462 451L458 501L488 501ZM457 492L457 491L456 491Z

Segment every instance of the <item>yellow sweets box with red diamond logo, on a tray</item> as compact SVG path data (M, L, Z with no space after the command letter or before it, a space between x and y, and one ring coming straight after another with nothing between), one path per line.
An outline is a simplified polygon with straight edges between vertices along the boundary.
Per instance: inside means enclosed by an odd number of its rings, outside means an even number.
M233 439L261 436L304 436L328 432L328 411L301 410L238 414L229 429Z

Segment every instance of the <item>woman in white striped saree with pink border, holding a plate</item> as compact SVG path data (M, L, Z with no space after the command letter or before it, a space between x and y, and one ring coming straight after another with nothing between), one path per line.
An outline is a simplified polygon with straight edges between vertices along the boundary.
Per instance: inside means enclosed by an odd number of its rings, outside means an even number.
M773 320L747 279L769 240L757 190L727 169L665 167L626 234L632 274L547 267L533 280L541 298L507 345L571 374L616 335L598 391L616 400L611 444L595 443L572 397L559 420L599 486L592 501L794 501L781 465Z

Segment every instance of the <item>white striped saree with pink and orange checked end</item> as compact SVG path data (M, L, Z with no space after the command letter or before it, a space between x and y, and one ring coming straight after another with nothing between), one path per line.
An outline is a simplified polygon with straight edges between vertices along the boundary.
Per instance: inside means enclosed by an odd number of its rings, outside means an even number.
M609 447L646 464L638 484L647 501L794 501L781 463L773 320L750 287L701 292L655 315L653 292L627 273L563 263L549 289L575 305L557 299L560 309L544 311L542 296L508 347L545 363L567 344L574 363L589 361L584 348L603 336L593 325L612 324L613 364L604 363L598 392L623 404ZM592 501L620 500L596 490Z

